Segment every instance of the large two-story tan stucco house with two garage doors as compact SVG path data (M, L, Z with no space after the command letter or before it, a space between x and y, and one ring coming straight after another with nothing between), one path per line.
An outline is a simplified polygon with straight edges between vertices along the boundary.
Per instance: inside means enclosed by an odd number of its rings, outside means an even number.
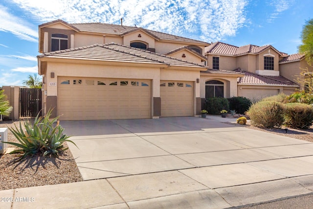
M236 96L243 76L207 70L205 46L122 23L41 24L43 107L62 120L195 116L206 91Z

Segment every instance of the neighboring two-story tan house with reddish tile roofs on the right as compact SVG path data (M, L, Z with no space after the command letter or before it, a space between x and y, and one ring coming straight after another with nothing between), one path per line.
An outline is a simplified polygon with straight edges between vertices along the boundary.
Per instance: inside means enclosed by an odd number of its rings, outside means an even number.
M259 100L278 93L291 94L299 87L291 80L291 76L284 77L287 71L292 74L291 66L281 70L280 61L289 55L270 45L238 47L216 42L205 47L205 56L209 69L245 74L237 80L238 96ZM294 72L298 73L297 70Z

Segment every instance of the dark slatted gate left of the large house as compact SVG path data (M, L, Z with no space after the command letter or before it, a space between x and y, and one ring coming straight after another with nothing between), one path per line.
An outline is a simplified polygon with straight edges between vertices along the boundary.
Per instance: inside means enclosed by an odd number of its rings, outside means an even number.
M35 117L42 109L41 89L20 89L20 117Z

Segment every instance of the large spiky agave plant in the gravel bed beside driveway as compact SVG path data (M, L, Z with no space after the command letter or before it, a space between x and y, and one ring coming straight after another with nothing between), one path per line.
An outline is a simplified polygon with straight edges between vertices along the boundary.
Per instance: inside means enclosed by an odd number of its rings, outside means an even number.
M15 128L9 128L20 142L4 142L20 148L9 154L23 153L20 160L37 153L42 153L43 156L51 154L59 157L59 151L67 149L64 149L63 146L65 141L69 141L76 146L73 141L68 139L70 136L63 134L64 128L59 125L58 121L60 116L50 119L51 112L52 110L49 110L45 116L39 116L38 114L33 124L29 120L23 120L20 121L19 128L15 124ZM54 123L56 123L55 126ZM23 126L26 129L25 131L23 131Z

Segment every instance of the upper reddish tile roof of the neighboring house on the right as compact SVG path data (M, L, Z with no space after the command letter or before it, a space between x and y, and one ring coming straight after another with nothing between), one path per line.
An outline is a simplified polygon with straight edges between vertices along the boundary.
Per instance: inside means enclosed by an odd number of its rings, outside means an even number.
M265 46L255 46L255 45L246 45L246 46L232 46L229 44L225 44L222 42L215 42L210 46L205 47L205 53L206 54L221 54L221 55L231 55L231 56L240 56L243 54L259 54L262 51L266 50L267 48L272 47L274 50L276 50L271 45L265 45ZM285 53L282 53L278 50L276 50L278 53L280 53L281 56L286 56Z

